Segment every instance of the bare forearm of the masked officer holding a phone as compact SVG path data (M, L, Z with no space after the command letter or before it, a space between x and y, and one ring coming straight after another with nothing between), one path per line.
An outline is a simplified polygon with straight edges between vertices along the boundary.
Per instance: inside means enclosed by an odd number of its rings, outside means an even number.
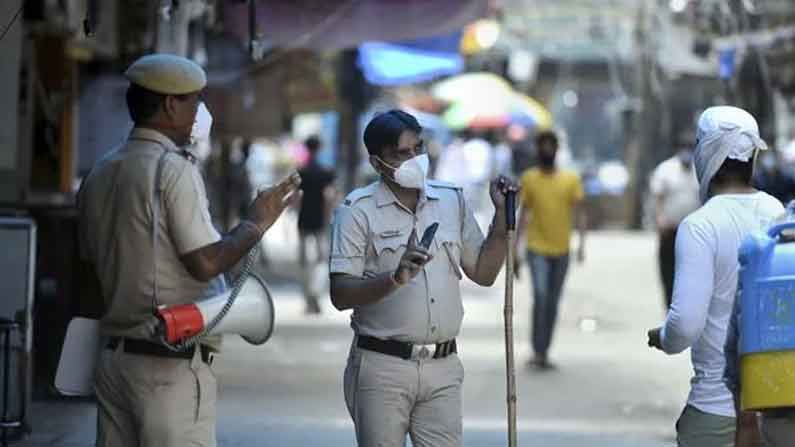
M394 279L394 272L381 273L371 278L335 274L331 277L331 303L338 310L350 309L380 301L399 287Z

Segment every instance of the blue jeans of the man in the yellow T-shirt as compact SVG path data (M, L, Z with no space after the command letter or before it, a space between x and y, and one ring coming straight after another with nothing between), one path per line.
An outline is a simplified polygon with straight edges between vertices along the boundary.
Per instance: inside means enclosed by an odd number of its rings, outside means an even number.
M558 319L558 304L569 269L569 255L544 256L528 250L527 262L533 282L530 344L536 355L546 356Z

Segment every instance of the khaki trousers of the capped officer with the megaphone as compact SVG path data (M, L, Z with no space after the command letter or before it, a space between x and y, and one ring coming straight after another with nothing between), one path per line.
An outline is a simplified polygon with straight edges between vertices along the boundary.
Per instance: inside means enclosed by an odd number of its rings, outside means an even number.
M217 384L198 354L173 359L102 351L97 447L214 447Z

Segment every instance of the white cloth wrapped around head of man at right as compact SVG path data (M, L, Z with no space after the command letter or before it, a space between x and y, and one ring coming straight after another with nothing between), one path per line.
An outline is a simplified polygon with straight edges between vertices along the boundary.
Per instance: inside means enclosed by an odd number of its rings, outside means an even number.
M767 149L759 138L759 125L750 113L731 106L710 107L698 119L693 164L704 203L709 184L727 158L750 161L757 150Z

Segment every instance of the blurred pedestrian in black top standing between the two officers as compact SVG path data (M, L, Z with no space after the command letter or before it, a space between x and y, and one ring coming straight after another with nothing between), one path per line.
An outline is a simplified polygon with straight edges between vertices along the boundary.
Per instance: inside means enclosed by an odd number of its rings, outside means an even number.
M317 161L320 139L311 136L304 142L309 159L298 172L304 196L298 211L298 259L301 266L301 285L306 300L306 313L319 314L318 302L320 276L326 276L321 260L326 257L329 210L336 197L334 172ZM309 244L314 242L314 256L309 254ZM310 259L311 258L311 259Z

